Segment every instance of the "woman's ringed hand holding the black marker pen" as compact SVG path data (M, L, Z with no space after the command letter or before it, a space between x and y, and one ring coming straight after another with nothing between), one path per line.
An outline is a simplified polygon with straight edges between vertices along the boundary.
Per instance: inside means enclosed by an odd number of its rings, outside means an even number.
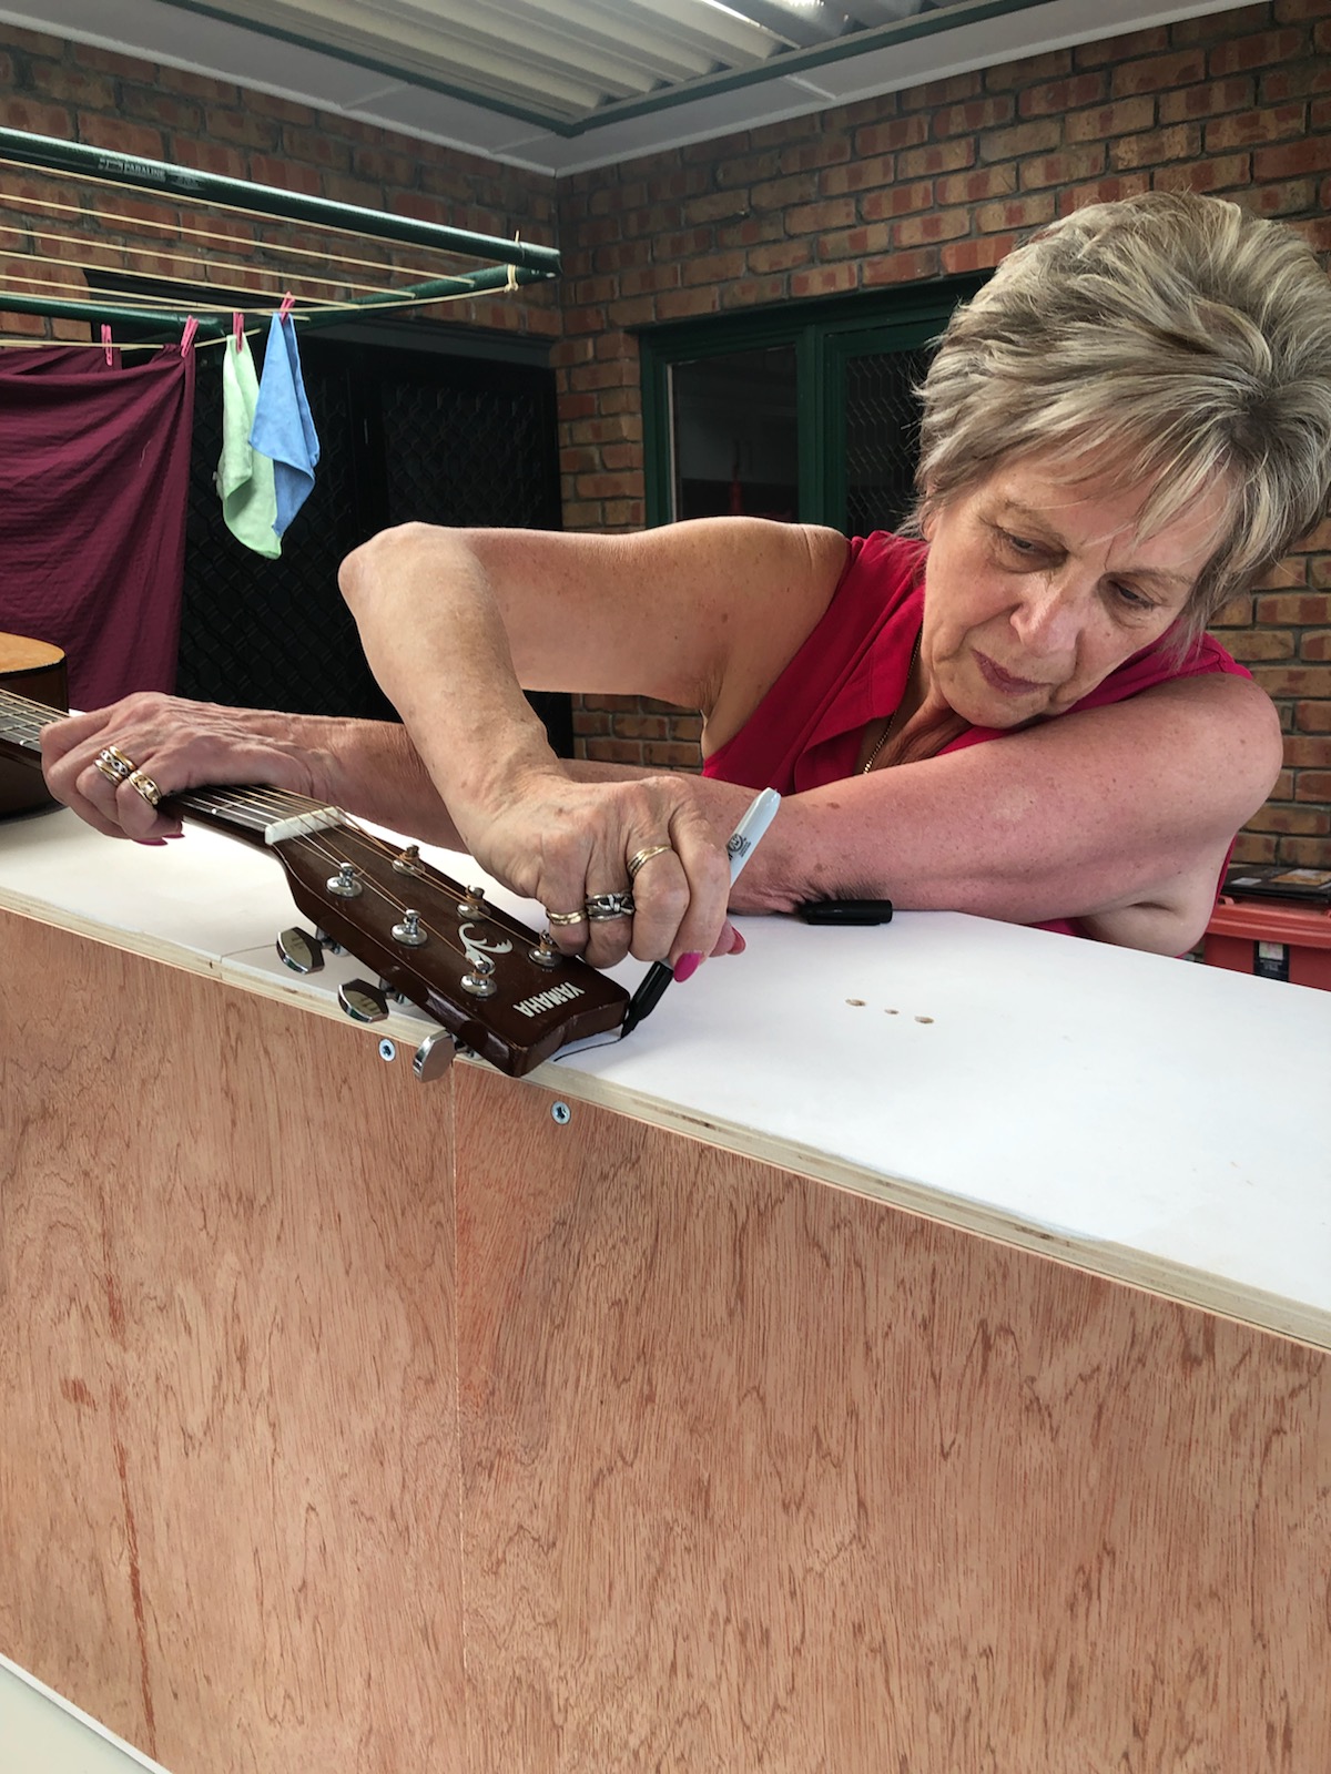
M625 954L657 962L740 946L726 919L726 853L690 777L577 782L552 759L529 772L500 811L465 821L461 836L483 869L554 914L550 935L564 953L595 967ZM630 880L628 862L639 855ZM632 917L586 915L593 896L626 892ZM573 914L582 915L570 922Z

